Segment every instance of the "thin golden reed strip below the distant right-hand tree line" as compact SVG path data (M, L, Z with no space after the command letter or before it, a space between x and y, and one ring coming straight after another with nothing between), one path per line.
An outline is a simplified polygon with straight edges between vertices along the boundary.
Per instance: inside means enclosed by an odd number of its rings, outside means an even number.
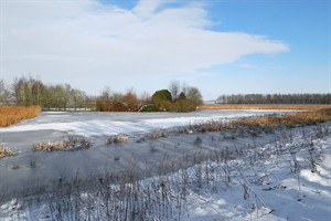
M331 108L331 105L264 105L264 104L203 104L199 109L290 109L320 110Z

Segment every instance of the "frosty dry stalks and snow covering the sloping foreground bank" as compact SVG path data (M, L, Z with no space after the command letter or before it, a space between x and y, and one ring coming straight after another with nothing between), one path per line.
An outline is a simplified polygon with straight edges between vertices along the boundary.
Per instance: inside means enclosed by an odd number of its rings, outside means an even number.
M193 138L193 137L192 137ZM193 144L193 143L192 143ZM51 186L2 200L2 220L325 220L331 200L330 124L284 129L275 141L164 158L158 176L132 161L121 172ZM28 196L28 197L25 197ZM4 199L4 198L3 198Z

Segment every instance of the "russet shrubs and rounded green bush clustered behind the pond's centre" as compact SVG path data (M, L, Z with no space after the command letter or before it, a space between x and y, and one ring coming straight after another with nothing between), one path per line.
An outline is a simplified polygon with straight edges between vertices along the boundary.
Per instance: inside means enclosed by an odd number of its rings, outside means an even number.
M100 112L191 112L202 104L202 95L197 87L172 81L169 90L159 90L152 96L140 97L130 90L126 94L103 91L96 98L96 109Z

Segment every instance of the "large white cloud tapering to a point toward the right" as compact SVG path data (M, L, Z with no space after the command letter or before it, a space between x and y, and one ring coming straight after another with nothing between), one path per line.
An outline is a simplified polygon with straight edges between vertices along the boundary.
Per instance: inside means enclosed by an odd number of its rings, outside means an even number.
M94 0L3 1L2 75L71 76L86 85L97 77L105 85L119 75L199 74L247 54L288 50L265 36L211 31L203 6L168 2L122 9Z

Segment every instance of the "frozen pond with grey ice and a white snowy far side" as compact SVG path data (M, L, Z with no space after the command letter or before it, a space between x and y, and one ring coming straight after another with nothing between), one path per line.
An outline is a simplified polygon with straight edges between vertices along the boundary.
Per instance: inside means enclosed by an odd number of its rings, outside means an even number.
M88 177L107 171L121 171L135 165L146 170L160 164L164 158L181 160L183 156L215 148L241 147L249 143L268 143L273 136L256 138L244 137L226 139L225 135L183 134L156 140L138 143L147 133L170 129L172 127L197 124L207 120L222 120L238 117L280 114L277 110L197 110L193 113L72 113L49 112L0 129L1 143L18 156L0 159L0 192L10 193L25 188L45 185L54 179ZM107 146L110 135L126 134L128 143ZM32 151L35 143L61 140L68 135L84 136L94 141L94 146L77 151ZM200 145L194 140L200 138ZM143 176L143 175L142 175ZM148 175L146 175L148 176ZM0 196L1 197L1 196Z

